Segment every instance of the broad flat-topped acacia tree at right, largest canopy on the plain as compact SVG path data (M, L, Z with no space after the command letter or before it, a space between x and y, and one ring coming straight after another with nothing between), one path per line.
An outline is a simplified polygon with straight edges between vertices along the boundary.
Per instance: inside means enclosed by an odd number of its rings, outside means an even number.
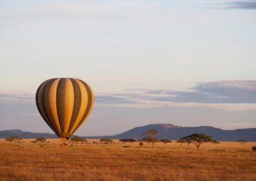
M212 140L211 136L207 134L190 134L188 136L180 138L180 140L184 140L185 142L191 141L192 143L195 143L197 150L199 150L200 146L203 143L214 141Z

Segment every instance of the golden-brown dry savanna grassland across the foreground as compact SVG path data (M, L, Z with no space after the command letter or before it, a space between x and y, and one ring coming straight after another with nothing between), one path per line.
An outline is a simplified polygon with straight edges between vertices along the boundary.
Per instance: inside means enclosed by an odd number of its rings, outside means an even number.
M0 140L0 180L256 180L256 143L9 143Z

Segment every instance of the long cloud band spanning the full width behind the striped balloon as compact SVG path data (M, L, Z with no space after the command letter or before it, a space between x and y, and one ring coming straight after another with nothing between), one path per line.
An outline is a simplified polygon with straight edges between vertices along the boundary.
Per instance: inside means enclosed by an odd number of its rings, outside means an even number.
M96 94L95 106L127 107L207 107L229 111L256 110L256 80L197 83L188 91L131 89L127 93ZM0 92L0 101L35 101L28 92Z

